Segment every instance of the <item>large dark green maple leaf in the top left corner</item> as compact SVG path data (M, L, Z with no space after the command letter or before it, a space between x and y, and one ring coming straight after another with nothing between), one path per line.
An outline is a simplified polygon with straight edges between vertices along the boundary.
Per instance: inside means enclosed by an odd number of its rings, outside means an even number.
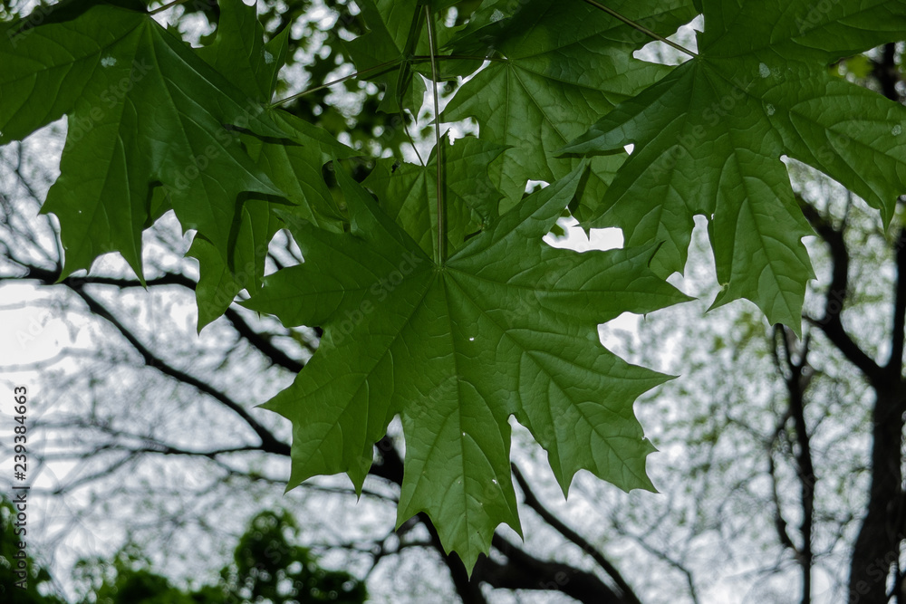
M239 194L281 191L225 126L282 130L143 11L75 0L38 23L0 24L0 144L69 118L43 206L63 226L63 276L111 251L141 275L141 231L170 206L226 259Z

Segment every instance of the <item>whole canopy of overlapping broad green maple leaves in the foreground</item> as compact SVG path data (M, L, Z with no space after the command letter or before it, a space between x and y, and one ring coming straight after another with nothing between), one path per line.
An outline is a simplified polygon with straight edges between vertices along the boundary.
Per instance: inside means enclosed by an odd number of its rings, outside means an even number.
M519 529L510 417L564 493L580 469L652 488L632 402L664 377L604 350L596 326L685 300L664 278L684 268L693 216L710 225L715 305L747 298L799 330L810 231L781 157L837 178L885 221L906 190L903 108L828 69L906 37L901 1L360 5L334 27L354 39L335 37L325 56L348 56L354 86L377 83L393 116L362 116L375 130L350 134L373 142L381 123L387 144L370 150L398 156L359 160L376 164L371 193L342 169L339 188L324 179L331 159L362 152L313 125L341 128L317 117L320 81L312 104L274 102L290 34L268 38L241 0L220 2L198 48L127 0L0 24L0 142L68 117L44 206L62 225L63 273L111 250L140 273L141 232L172 208L197 231L199 328L243 290L287 326L322 326L313 360L266 405L294 424L290 486L346 472L361 489L399 415L399 521L429 513L468 569L499 523ZM696 14L706 28L690 61L634 57ZM310 73L326 78L323 61ZM400 143L426 77L455 91L442 119L474 118L480 132L438 137L427 164L411 164ZM379 107L368 99L365 113ZM549 186L525 197L529 181ZM621 227L626 249L548 247L567 207L586 227ZM265 277L284 226L304 263Z

